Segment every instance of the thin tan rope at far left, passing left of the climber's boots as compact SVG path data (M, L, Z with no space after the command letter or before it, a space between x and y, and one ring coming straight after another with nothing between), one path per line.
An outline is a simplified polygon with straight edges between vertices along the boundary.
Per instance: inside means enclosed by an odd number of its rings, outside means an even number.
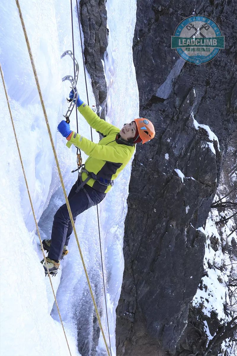
M68 339L67 339L67 337L66 337L65 329L64 329L64 326L63 326L63 321L62 321L61 314L60 314L60 311L59 311L58 302L57 302L56 295L55 295L54 288L53 288L52 279L51 279L51 276L50 276L50 273L49 273L48 264L47 264L46 257L45 257L45 254L44 254L44 248L43 248L41 236L40 236L40 233L39 233L39 227L38 227L38 223L37 223L37 220L36 220L36 214L34 213L33 203L32 203L32 199L31 199L31 194L30 194L30 192L29 192L29 186L28 186L28 182L27 182L27 178L26 178L25 169L24 169L24 166L23 166L23 161L22 161L22 157L21 157L20 147L19 147L19 145L18 145L18 140L17 140L17 136L16 136L15 125L14 125L14 121L13 121L13 118L12 118L10 103L9 103L9 99L8 99L8 95L7 95L7 91L6 91L6 85L5 85L5 80L4 80L4 76L3 76L3 73L2 73L1 64L0 64L0 72L1 72L2 83L3 83L3 86L4 86L5 95L6 95L7 106L8 106L8 110L9 110L10 117L11 117L12 128L13 128L14 136L15 136L15 140L16 140L16 146L17 146L18 154L19 154L20 161L21 161L21 167L22 167L23 175L24 175L25 182L26 182L26 188L27 188L27 192L28 192L28 196L29 196L29 201L30 201L30 204L31 204L32 213L33 213L33 216L34 216L34 222L35 222L35 224L36 224L36 229L37 229L37 233L38 233L38 236L39 236L39 241L40 241L40 244L41 244L41 250L42 250L43 256L44 256L44 262L45 262L45 266L47 267L47 272L48 272L48 276L49 276L49 281L50 281L50 284L51 284L51 288L52 288L52 291L53 291L55 304L56 304L56 307L57 307L57 309L58 309L59 319L60 319L60 322L61 322L61 325L62 325L62 328L63 328L63 332L64 332L64 336L65 336L65 339L66 339L66 342L67 342L67 345L68 345L69 354L70 354L70 356L71 356L71 351L70 351L70 347L69 347L69 344L68 344Z

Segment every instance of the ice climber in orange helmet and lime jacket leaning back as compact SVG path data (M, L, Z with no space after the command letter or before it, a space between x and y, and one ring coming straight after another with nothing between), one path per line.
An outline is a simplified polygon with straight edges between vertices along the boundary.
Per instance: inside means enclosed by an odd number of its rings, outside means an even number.
M71 91L70 98L73 98ZM155 136L155 129L151 121L138 118L129 124L117 127L100 119L96 113L79 97L76 102L79 112L88 124L104 137L99 143L91 142L79 133L70 129L66 121L61 121L58 131L68 140L67 146L80 148L89 157L85 167L81 169L76 183L72 186L68 200L74 222L77 215L97 205L106 196L113 185L113 181L130 161L135 150L135 144L150 141ZM68 242L72 233L68 208L62 205L54 215L51 240L43 240L43 247L48 252L46 257L50 274L56 274L59 261L68 253ZM42 260L45 274L47 268Z

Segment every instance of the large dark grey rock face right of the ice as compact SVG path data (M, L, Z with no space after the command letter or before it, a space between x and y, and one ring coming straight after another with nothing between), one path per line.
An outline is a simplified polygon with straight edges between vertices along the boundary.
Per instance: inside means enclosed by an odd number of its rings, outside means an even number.
M226 38L225 50L200 66L184 62L170 45L178 23L193 12L217 22ZM233 13L231 1L137 1L140 116L152 120L156 136L137 145L133 161L117 355L178 355L181 336L188 337L189 303L203 274L205 235L197 229L205 224L237 126ZM209 126L220 149L194 119Z

